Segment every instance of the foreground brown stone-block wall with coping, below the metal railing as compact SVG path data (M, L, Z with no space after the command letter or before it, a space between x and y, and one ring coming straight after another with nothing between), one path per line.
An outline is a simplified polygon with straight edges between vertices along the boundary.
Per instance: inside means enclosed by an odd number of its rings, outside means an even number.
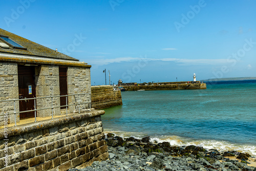
M109 157L101 115L104 111L8 127L0 130L0 170L82 168Z

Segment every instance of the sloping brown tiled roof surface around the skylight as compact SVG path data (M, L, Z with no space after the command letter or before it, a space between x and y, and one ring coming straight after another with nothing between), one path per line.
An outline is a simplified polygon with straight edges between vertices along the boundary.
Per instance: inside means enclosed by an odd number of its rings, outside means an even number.
M60 52L56 52L50 48L45 46L39 45L33 41L30 41L26 38L20 37L16 34L10 33L6 30L0 28L0 35L1 36L8 36L10 39L17 42L19 45L24 47L25 49L16 49L12 48L2 48L0 46L0 52L7 53L7 54L18 54L18 55L31 55L31 56L38 56L38 57L46 57L46 58L54 58L54 59L66 59L66 60L75 60L78 59L70 57L68 55L62 54ZM0 39L0 43L6 43L5 41Z

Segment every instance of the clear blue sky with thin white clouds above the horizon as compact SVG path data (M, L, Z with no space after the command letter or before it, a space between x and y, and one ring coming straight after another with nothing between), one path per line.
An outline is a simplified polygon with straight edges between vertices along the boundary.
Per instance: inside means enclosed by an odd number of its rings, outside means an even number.
M92 85L256 77L256 1L2 1L1 28L92 65ZM107 83L109 77L107 73Z

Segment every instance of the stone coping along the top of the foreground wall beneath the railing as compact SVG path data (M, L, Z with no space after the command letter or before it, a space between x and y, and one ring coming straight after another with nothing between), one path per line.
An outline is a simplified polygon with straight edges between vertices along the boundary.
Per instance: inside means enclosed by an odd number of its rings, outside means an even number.
M105 111L103 110L84 112L84 113L74 114L74 115L60 117L60 118L48 119L44 121L38 121L38 122L28 123L24 125L8 127L8 138L12 136L17 136L17 135L34 132L34 131L47 129L47 128L49 129L49 127L62 125L70 122L75 122L75 121L83 120L86 118L94 118L97 116L104 115L104 113ZM4 136L4 129L0 130L0 140L2 139L6 139Z

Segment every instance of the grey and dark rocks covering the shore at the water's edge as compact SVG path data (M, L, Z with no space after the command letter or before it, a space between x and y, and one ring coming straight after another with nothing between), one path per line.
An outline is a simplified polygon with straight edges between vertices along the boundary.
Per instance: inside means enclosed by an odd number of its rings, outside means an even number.
M70 171L91 170L243 170L256 171L256 167L248 166L255 162L249 154L228 151L218 152L216 149L205 149L194 145L178 147L168 142L151 143L150 137L123 139L109 133L106 143L109 148L109 159L95 161L89 167L70 169ZM234 158L235 159L230 159Z

